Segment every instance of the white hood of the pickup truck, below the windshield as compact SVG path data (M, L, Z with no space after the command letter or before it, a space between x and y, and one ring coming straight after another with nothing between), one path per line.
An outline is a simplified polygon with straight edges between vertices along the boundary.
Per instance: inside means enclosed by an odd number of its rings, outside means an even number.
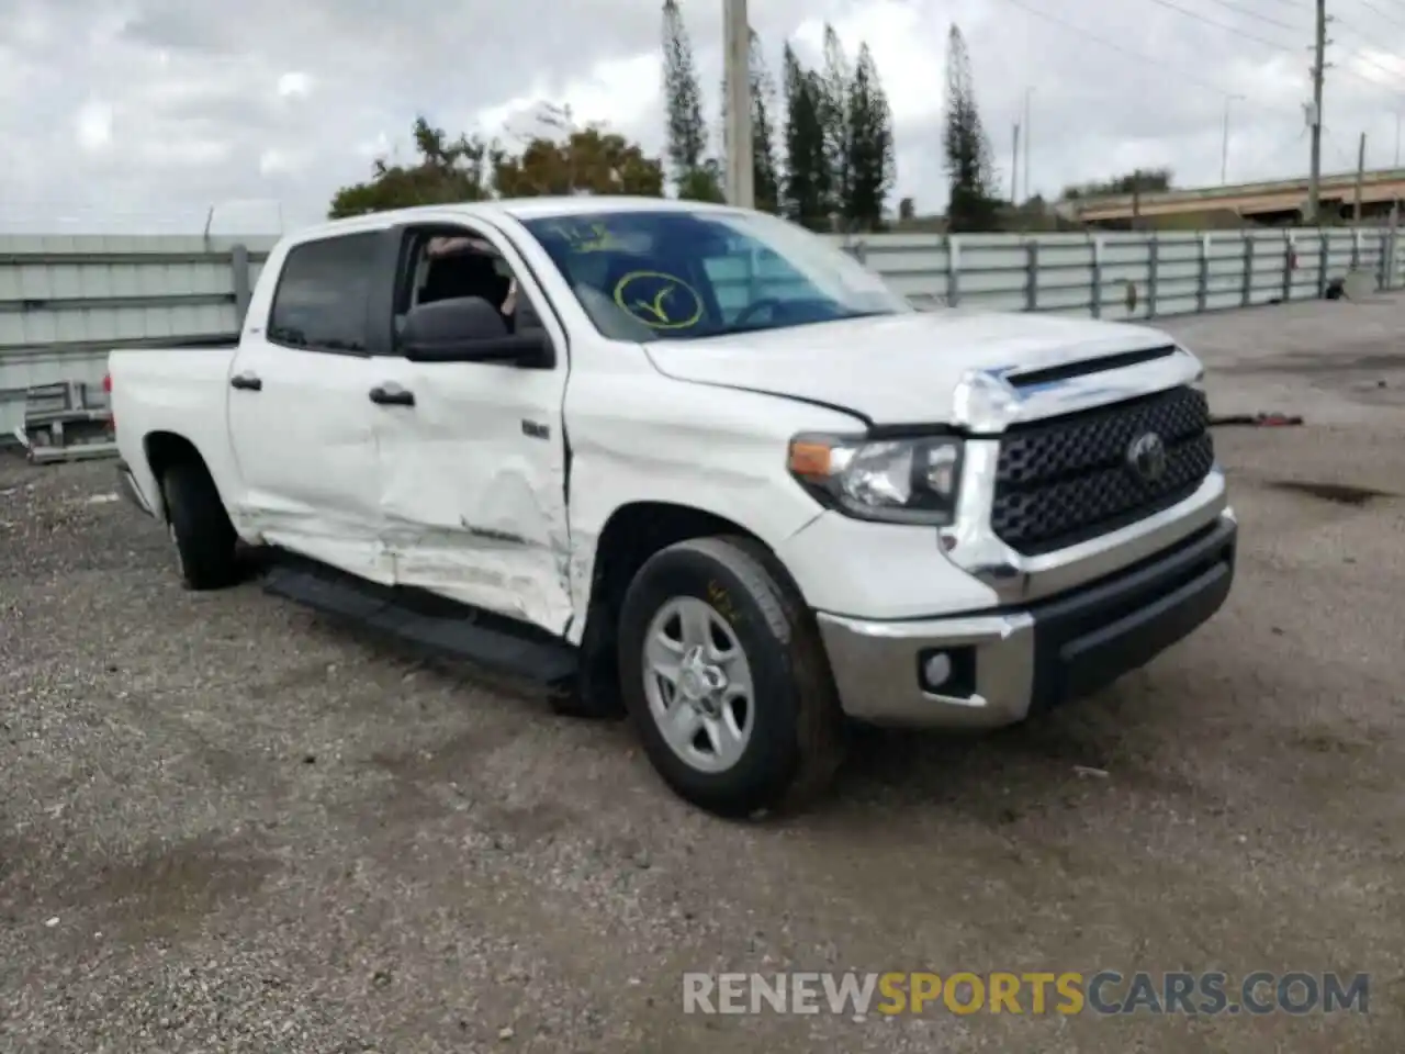
M1027 372L1165 347L1145 326L1047 315L915 312L645 344L666 377L839 406L874 424L953 420L967 371Z

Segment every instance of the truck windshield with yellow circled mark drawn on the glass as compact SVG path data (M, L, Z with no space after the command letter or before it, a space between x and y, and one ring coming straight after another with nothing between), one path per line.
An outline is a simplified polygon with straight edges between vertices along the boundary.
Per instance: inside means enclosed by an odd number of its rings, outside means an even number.
M607 337L697 340L913 308L818 235L750 212L525 221Z

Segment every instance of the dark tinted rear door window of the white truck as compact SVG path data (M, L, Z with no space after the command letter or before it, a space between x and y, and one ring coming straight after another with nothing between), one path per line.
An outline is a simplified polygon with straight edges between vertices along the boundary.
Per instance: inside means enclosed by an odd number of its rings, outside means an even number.
M268 340L311 351L365 351L378 242L372 230L289 250L273 295Z

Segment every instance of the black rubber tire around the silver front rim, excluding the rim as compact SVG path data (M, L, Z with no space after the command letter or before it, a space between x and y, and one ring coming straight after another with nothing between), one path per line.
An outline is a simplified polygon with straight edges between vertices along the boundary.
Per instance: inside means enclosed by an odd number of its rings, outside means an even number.
M809 804L829 787L843 756L843 718L813 616L771 566L770 554L749 538L683 541L641 568L620 617L621 693L649 760L681 798L728 818ZM726 617L750 668L750 736L722 772L702 772L669 746L645 693L649 624L679 597L702 600Z

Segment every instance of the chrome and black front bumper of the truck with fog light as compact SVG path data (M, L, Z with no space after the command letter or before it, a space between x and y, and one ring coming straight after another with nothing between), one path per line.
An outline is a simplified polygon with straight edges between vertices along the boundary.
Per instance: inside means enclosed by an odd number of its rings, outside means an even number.
M1141 564L1017 609L902 621L821 613L840 703L873 724L998 728L1092 694L1220 610L1236 535L1225 510Z

